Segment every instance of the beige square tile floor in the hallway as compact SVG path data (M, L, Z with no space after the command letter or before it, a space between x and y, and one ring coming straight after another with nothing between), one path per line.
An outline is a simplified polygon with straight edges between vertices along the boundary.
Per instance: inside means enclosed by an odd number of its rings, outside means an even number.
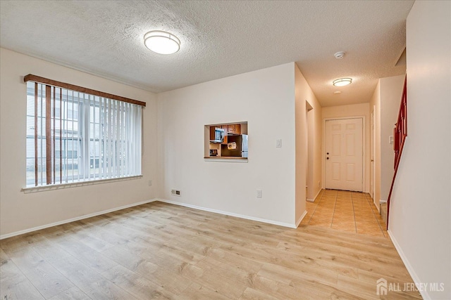
M315 202L307 202L307 215L300 225L388 237L371 196L347 190L322 190Z

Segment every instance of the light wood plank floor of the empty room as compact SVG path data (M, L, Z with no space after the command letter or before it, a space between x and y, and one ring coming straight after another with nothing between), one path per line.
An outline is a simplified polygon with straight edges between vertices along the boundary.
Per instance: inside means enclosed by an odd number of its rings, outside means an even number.
M1 299L379 299L412 282L390 238L161 202L0 241ZM388 292L383 299L412 299Z

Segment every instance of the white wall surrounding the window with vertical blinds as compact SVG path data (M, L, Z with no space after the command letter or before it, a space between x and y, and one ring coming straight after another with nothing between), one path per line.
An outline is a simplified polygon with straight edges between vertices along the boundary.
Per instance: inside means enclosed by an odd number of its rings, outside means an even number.
M156 197L156 96L107 79L0 49L0 235L60 222ZM26 84L38 76L97 89L147 103L144 109L144 153L141 179L65 188L39 193L25 187Z

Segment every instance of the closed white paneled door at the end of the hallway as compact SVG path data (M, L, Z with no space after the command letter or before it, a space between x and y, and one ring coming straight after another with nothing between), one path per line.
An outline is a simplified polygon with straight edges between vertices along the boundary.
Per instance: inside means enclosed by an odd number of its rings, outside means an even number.
M363 120L326 121L326 188L363 191Z

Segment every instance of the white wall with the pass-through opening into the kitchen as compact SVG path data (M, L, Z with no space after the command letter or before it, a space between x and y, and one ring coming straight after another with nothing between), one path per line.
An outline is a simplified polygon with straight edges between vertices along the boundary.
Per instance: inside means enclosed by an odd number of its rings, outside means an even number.
M158 116L161 198L295 225L294 63L159 93ZM249 162L206 161L204 125L233 122L248 122Z

